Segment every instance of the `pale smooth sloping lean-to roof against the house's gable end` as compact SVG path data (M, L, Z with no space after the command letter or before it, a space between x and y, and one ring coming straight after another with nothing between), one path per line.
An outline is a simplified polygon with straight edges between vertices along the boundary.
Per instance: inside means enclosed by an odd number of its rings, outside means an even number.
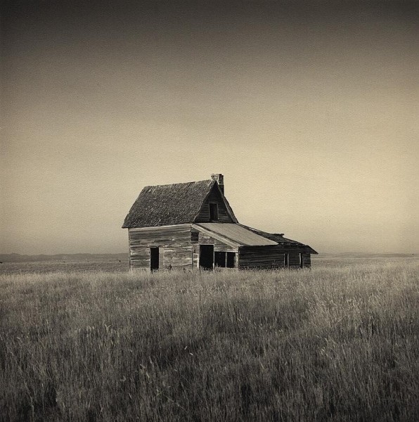
M196 223L193 224L196 229L205 229L216 235L225 238L230 243L235 243L239 246L268 246L278 245L278 242L271 241L268 238L259 236L253 231L246 229L240 224L234 223Z

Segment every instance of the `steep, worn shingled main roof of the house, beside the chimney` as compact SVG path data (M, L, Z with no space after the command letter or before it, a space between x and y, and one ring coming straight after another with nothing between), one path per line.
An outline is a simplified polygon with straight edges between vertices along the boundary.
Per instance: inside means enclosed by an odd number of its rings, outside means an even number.
M231 210L217 181L208 179L143 188L127 217L123 229L133 227L168 226L192 223L202 209L207 196L216 186L228 213L234 222L236 217Z

